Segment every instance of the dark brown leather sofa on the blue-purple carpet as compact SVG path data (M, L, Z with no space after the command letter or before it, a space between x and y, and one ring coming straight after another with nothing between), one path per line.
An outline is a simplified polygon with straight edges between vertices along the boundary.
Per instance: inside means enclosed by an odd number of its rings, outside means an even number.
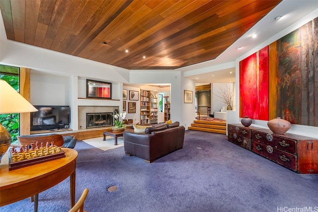
M146 162L154 162L169 153L182 149L184 126L179 122L146 128L145 134L125 130L124 148L128 156L136 156Z

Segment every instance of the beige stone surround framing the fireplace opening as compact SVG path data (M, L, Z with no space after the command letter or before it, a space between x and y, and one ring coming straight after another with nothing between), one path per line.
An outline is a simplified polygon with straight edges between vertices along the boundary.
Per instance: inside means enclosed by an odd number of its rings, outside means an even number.
M115 109L119 106L79 106L79 129L86 129L86 113L113 113Z

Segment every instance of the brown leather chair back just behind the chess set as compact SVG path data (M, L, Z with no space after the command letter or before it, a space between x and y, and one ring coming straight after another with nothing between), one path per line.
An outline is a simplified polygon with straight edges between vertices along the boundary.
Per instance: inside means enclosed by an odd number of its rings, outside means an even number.
M46 145L46 142L49 142L51 144L52 141L54 141L54 145L58 147L62 147L64 144L63 136L60 134L49 134L49 135L21 135L17 137L19 143L21 146L35 144L36 142L41 144L43 142L43 145Z

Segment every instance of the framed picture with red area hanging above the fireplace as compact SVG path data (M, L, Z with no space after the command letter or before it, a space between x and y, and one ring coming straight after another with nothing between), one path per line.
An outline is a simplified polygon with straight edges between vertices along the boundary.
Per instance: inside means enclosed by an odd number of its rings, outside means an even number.
M111 99L111 83L86 79L86 98Z

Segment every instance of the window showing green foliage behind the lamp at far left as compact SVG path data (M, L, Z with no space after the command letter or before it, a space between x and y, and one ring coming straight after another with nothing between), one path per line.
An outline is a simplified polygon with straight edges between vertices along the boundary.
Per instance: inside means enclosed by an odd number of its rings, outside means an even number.
M6 81L19 92L19 68L0 65L0 79ZM19 135L19 113L0 114L0 123L10 133L11 142L16 143L16 137Z

